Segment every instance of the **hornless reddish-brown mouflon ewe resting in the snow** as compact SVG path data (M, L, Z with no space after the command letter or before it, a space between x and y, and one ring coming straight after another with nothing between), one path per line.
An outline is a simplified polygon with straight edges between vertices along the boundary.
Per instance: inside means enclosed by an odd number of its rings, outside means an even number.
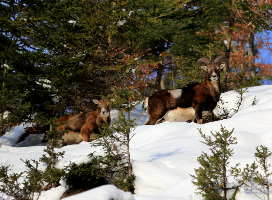
M113 101L113 99L111 99ZM79 144L82 141L91 142L99 134L99 128L102 124L111 123L110 108L108 100L94 99L93 102L98 104L98 111L88 112L78 115L64 115L57 120L57 124L70 121L67 124L57 127L58 131L67 132L63 134L63 140L60 141L63 146L70 144Z

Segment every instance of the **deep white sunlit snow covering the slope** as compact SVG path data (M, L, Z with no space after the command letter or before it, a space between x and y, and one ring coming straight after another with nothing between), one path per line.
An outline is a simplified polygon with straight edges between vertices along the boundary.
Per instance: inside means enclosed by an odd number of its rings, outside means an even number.
M136 176L135 194L123 192L114 186L105 185L95 188L73 197L65 199L93 199L93 200L200 200L202 197L196 195L196 186L191 182L189 174L194 174L194 168L199 167L197 157L201 152L209 152L209 147L199 140L197 128L201 128L206 135L210 131L219 131L220 124L231 131L235 128L233 136L237 138L238 144L232 146L234 155L230 159L230 165L241 164L241 168L254 162L255 147L263 145L272 150L272 85L262 85L248 88L249 92L243 95L243 102L240 110L232 118L207 124L195 123L161 123L154 126L143 126L147 121L147 115L138 119L138 127L133 132L131 140L131 159L133 173ZM230 110L235 107L237 93L230 91L222 93L225 106ZM252 105L256 96L256 105ZM134 110L133 115L138 116L141 105ZM215 109L215 114L218 110ZM112 112L112 118L115 113ZM31 124L26 124L31 126ZM10 165L12 172L24 171L24 163L20 160L39 159L45 148L40 144L43 135L32 135L26 141L16 144L18 138L24 133L23 125L15 127L14 131L7 132L0 137L0 159L1 165ZM34 146L36 145L36 146ZM63 159L59 160L57 167L67 166L69 162L82 163L89 160L88 154L99 148L90 147L87 142L78 145L62 147L65 151ZM102 152L101 152L102 153ZM269 160L271 163L272 161ZM45 165L39 166L44 169ZM232 184L233 178L228 182ZM50 189L42 194L41 200L59 200L66 191L65 183L62 186ZM272 191L270 191L272 192ZM228 195L231 195L229 191ZM7 198L5 194L0 194ZM270 196L271 198L271 196ZM252 199L257 200L252 193L240 189L236 200Z

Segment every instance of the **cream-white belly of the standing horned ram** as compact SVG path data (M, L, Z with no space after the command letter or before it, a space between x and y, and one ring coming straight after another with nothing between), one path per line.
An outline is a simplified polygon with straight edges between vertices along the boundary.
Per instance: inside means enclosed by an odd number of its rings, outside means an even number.
M207 115L209 111L202 111L202 116ZM180 108L177 107L174 110L168 110L165 115L164 119L169 122L186 122L190 119L195 119L196 114L193 107L189 108Z

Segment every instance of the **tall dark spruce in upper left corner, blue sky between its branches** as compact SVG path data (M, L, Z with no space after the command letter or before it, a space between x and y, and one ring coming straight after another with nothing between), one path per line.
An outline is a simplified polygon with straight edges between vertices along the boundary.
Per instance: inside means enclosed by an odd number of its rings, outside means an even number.
M42 68L37 66L37 56L40 55L40 52L27 40L29 27L23 13L28 6L23 1L4 0L0 2L1 94L4 104L5 101L13 102L14 97L15 102L17 101L17 105L6 106L9 115L5 123L32 121L38 111L44 110L44 102L50 101L51 97L49 92L44 92L43 86L36 83L39 82L38 77L44 75L42 75ZM37 2L33 1L33 3ZM32 11L34 14L38 9ZM7 68L3 66L8 66L9 69L6 70ZM5 84L4 87L3 84ZM53 101L51 103L53 104ZM23 105L30 106L22 107Z

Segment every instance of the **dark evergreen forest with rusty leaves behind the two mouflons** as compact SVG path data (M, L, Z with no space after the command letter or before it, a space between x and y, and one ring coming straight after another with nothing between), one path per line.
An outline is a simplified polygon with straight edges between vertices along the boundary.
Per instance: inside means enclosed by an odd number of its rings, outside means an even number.
M230 60L223 92L269 83L271 65L256 60L265 60L261 48L271 51L271 6L238 0L0 0L1 129L96 110L92 99L114 88L137 91L131 101L176 89L211 45L212 59ZM182 68L181 58L187 59Z

